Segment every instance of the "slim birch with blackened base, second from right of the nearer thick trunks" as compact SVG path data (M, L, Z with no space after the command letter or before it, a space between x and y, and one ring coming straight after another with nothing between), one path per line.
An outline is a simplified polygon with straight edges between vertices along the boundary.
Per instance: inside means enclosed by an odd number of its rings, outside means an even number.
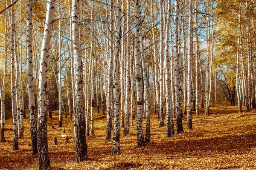
M179 34L178 34L179 0L175 0L175 27L174 27L174 66L175 66L175 95L176 95L176 126L177 133L183 132L182 111L180 104L180 69L179 69Z

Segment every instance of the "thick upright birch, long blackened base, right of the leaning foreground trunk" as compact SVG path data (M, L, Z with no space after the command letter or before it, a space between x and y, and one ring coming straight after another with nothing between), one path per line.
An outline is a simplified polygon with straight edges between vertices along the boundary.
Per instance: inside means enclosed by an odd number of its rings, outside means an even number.
M75 59L76 87L76 162L87 159L85 138L84 94L83 94L83 62L79 41L79 0L72 0L72 37Z

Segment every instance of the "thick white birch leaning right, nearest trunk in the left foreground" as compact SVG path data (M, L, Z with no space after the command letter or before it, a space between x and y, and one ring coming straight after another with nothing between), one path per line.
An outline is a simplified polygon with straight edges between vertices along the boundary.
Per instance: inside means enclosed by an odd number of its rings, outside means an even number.
M39 71L39 113L38 113L38 165L39 170L50 168L47 141L47 79L48 60L52 37L52 25L55 11L55 0L47 1L47 13L42 40Z

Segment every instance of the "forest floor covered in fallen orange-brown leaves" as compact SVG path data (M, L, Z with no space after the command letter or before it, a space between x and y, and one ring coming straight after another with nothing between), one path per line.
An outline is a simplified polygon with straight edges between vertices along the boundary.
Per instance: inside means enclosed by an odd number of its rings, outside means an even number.
M153 110L152 110L153 112ZM186 117L186 116L184 116ZM37 155L32 156L29 119L25 121L24 139L19 139L19 150L12 150L12 121L6 121L6 143L0 143L0 169L38 169ZM145 121L144 121L145 122ZM135 122L136 123L136 122ZM137 147L136 125L130 135L123 137L120 130L118 156L111 156L112 140L105 140L106 116L95 113L93 136L87 136L88 160L75 162L75 140L65 144L73 135L73 123L64 119L58 126L58 117L49 119L48 146L52 169L251 169L256 170L256 113L237 113L236 107L211 108L210 116L192 115L193 130L166 139L165 127L158 127L157 116L151 115L151 142ZM145 123L143 124L145 133ZM176 128L175 128L176 129ZM71 132L68 132L71 130ZM113 135L113 132L112 132ZM53 144L56 136L58 144Z

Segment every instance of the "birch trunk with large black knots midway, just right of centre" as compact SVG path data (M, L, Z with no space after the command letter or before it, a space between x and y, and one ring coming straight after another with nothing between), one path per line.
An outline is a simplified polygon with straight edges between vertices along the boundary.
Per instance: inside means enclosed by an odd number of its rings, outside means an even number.
M140 0L135 1L135 79L137 88L137 142L138 145L144 144L143 128L142 128L142 113L143 113L143 91L142 91L142 78L141 78L141 63L140 63Z

